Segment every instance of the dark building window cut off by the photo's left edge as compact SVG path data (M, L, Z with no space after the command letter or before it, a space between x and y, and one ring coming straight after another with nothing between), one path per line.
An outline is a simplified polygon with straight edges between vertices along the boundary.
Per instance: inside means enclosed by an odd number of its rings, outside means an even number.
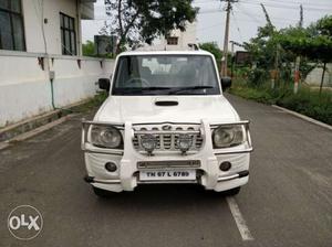
M0 0L0 50L25 51L21 0Z

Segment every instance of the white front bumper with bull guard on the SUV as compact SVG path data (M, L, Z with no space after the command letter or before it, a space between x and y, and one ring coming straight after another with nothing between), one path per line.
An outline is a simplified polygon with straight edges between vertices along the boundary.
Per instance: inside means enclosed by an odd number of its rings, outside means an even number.
M246 124L247 129L247 142L228 149L214 149L211 140L211 128L210 124L207 121L201 121L201 132L204 136L204 143L197 153L190 155L174 155L174 154L163 154L163 155L144 155L137 152L133 146L133 128L131 122L126 122L123 127L124 136L124 150L105 150L93 147L91 143L86 142L86 128L83 124L82 132L82 149L85 151L85 164L87 176L85 181L91 183L93 186L108 190L113 192L121 191L133 191L141 183L198 183L201 184L207 190L215 191L226 191L237 186L241 186L248 182L249 179L249 160L250 152L252 151L250 135L248 124ZM87 125L93 125L96 122L86 122ZM107 125L102 122L102 125ZM108 124L110 125L110 124ZM113 125L113 124L111 124ZM225 124L226 125L226 124ZM230 125L230 124L227 124ZM199 160L200 164L198 168L193 168L196 170L196 180L190 181L141 181L139 171L144 168L138 168L138 162L142 161L183 161L183 160ZM230 162L231 169L227 172L220 171L219 165L221 162ZM117 165L115 172L108 172L105 170L104 165L106 162L113 162ZM164 170L167 168L159 168L156 170ZM188 169L176 167L174 170ZM190 168L189 168L190 169Z

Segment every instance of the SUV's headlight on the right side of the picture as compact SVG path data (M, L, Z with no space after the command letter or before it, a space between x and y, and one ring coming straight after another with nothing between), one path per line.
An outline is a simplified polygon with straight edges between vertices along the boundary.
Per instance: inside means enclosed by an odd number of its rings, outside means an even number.
M243 143L242 126L220 126L212 132L214 148L230 148Z

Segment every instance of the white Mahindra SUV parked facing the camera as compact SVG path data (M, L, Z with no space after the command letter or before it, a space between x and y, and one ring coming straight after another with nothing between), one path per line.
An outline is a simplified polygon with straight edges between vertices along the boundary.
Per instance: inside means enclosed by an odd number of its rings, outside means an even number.
M239 192L249 179L249 121L222 96L230 80L204 51L125 52L108 98L93 121L83 120L82 149L97 195L139 184L196 183Z

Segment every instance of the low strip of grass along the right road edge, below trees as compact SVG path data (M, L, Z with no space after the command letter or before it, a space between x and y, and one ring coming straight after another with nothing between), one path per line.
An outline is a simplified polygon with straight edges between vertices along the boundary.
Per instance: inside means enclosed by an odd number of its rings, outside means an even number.
M259 103L276 104L332 125L332 93L329 90L320 95L319 90L303 86L293 94L291 87L271 89L268 85L252 87L245 82L235 82L230 93Z

